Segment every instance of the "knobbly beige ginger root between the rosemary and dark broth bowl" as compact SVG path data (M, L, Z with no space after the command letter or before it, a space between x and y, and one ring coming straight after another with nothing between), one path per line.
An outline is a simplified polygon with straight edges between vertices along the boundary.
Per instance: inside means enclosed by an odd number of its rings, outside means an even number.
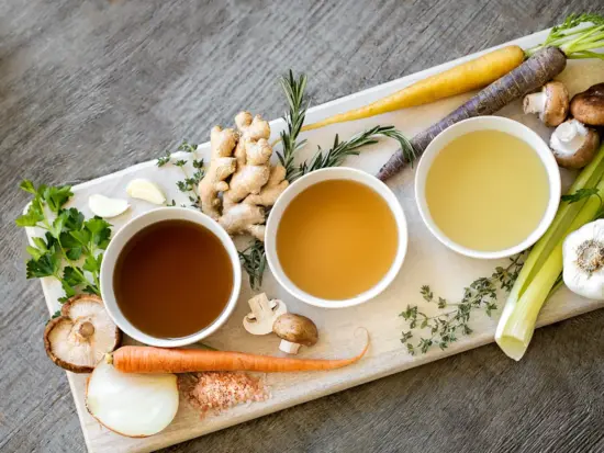
M270 165L268 122L241 112L235 124L238 133L220 126L212 129L212 157L199 183L201 209L230 235L249 234L264 240L265 207L272 206L288 186L286 169Z

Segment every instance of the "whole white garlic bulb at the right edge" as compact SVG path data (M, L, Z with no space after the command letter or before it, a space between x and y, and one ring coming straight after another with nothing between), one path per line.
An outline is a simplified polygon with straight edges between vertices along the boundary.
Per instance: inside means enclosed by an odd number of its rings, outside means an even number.
M562 248L562 276L570 291L591 299L604 299L604 220L571 233Z

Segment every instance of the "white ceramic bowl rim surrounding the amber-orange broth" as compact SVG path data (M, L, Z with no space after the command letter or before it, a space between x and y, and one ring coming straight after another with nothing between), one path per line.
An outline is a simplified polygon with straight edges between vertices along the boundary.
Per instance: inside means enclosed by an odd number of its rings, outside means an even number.
M286 273L283 272L283 269L281 268L281 264L279 263L279 257L277 254L277 228L279 227L279 222L281 220L281 216L283 215L283 212L286 211L290 202L299 193L303 192L305 189L310 188L311 185L316 184L317 182L327 181L327 180L338 180L338 179L356 181L361 184L365 184L368 188L372 189L374 192L377 192L388 203L388 205L390 206L390 209L392 211L392 214L394 215L394 219L399 228L399 249L396 250L396 254L394 257L394 261L392 265L390 267L390 270L376 286L353 298L347 298L342 301L332 301L332 299L323 299L320 297L315 297L300 290L286 275ZM403 265L403 260L406 253L406 246L407 246L407 228L406 228L405 215L403 213L403 208L401 207L401 204L399 203L399 200L396 200L396 196L392 193L392 191L383 182L381 182L380 180L378 180L377 178L372 177L369 173L366 173L360 170L351 169L351 168L342 168L342 167L313 171L300 178L298 181L291 184L281 194L281 196L279 196L279 199L277 200L277 203L270 211L270 215L267 222L266 241L265 241L265 249L267 253L268 265L272 274L277 279L277 281L281 284L281 286L283 286L288 291L288 293L290 293L295 298L302 302L305 302L306 304L314 305L316 307L324 307L324 308L351 307L354 305L362 304L363 302L367 302L376 297L378 294L384 291L388 287L388 285L392 283L392 281L399 273L401 267Z

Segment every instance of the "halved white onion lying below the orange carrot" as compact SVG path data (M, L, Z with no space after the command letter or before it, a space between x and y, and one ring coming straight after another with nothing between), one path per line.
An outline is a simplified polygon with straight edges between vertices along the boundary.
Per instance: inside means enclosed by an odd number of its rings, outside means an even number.
M122 373L101 360L88 381L86 407L111 431L146 438L174 420L178 410L177 377Z

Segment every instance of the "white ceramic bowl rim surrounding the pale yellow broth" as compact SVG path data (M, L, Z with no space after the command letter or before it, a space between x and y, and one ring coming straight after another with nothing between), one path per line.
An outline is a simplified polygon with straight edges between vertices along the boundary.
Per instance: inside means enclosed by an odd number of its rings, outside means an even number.
M500 131L521 138L527 143L535 150L535 152L537 152L547 172L549 183L549 202L541 222L525 240L504 250L472 250L454 242L434 223L426 202L426 179L436 156L438 156L443 148L445 148L445 146L454 139L474 131ZM513 183L513 181L511 181L511 183ZM549 146L533 129L522 123L502 116L478 116L461 121L443 131L434 140L432 140L424 151L415 174L415 200L417 202L417 207L420 208L422 219L430 233L449 249L467 257L480 259L511 257L533 246L544 235L544 233L546 233L556 216L556 211L558 209L558 205L560 203L560 169L556 163L556 159L553 158Z

